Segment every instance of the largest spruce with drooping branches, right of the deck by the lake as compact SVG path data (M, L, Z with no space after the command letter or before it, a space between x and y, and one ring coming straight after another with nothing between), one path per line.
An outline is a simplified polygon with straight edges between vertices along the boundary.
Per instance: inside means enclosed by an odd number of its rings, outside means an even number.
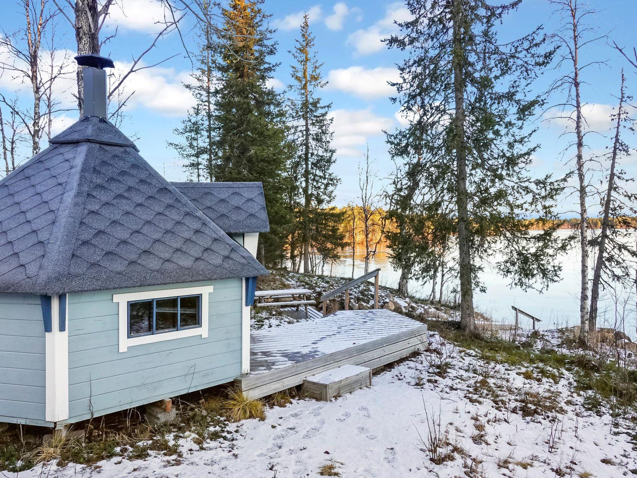
M496 268L512 285L546 286L557 280L554 228L531 235L533 216L552 218L562 183L529 175L533 130L525 127L540 98L531 82L552 57L541 29L500 43L497 25L519 1L408 0L412 19L387 40L408 53L393 83L408 118L388 137L394 157L420 161L429 198L452 198L459 250L461 328L476 333L473 289L483 261L501 254ZM425 199L431 201L431 199ZM433 204L424 204L431 212Z

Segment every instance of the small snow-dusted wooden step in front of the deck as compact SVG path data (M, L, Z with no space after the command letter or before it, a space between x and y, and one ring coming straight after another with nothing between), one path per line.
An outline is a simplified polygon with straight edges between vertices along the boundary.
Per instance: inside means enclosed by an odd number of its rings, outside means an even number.
M302 393L316 400L345 395L363 387L371 387L371 368L359 365L342 365L317 373L303 380Z

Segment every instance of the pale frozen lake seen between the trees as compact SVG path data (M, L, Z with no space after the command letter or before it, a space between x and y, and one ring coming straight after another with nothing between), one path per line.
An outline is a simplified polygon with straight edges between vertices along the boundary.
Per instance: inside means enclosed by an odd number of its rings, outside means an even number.
M570 231L561 230L558 233L566 237ZM634 233L628 233L627 240L629 243L635 243L637 236ZM580 272L579 272L579 248L569 250L564 256L559 258L562 264L561 280L548 287L543 293L529 290L522 291L517 288L510 288L508 281L499 277L492 270L489 264L485 264L485 271L481 275L481 279L487 287L486 293L475 292L474 302L477 310L483 314L490 315L496 322L513 322L514 316L511 306L515 305L525 312L534 315L542 320L540 328L555 328L579 323L579 288L580 288ZM592 258L592 256L591 256ZM370 270L380 268L380 283L384 286L396 287L400 272L392 268L389 263L386 251L378 252L372 259ZM357 251L354 258L355 276L364 273L364 254ZM592 260L591 260L592 270ZM326 266L325 273L329 274L329 266ZM342 277L352 276L352 253L343 254L339 263L334 264L332 268L333 275ZM591 274L592 276L592 274ZM453 298L450 294L454 284L447 286L446 295ZM415 296L428 297L431 292L431 284L422 283L418 280L410 281L410 293ZM619 310L615 314L615 301L608 297L608 294L599 304L601 313L605 314L603 319L604 325L614 326L615 317L620 321L624 317L626 333L631 337L636 336L636 296L634 289L624 290L618 305ZM529 323L526 323L529 322ZM530 327L530 320L520 317L520 325ZM602 323L600 323L600 326Z

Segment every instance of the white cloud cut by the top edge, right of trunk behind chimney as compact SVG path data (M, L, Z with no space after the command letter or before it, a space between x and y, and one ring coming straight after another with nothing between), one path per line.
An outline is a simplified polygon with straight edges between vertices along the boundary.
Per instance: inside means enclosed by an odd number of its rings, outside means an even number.
M145 33L149 30L155 32L158 31L157 22L164 20L164 13L164 6L159 0L120 0L108 9L106 25L113 29L118 26Z

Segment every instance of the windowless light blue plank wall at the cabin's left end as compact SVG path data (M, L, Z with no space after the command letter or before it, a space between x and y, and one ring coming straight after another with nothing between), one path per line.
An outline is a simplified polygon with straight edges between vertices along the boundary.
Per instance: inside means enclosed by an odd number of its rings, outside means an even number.
M0 422L43 424L45 386L40 298L0 294Z

